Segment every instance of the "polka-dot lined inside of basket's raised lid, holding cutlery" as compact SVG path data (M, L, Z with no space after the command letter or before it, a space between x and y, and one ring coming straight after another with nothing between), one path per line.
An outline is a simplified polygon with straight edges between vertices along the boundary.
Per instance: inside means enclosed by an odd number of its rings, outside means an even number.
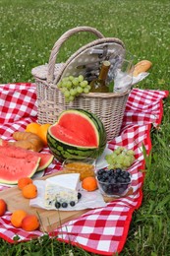
M122 62L126 53L125 48L114 41L102 42L96 45L90 45L82 48L82 51L77 51L65 63L65 68L62 70L61 78L70 75L83 75L85 80L91 81L96 79L101 64L104 60L109 60L111 67L108 73L108 82L112 81L118 65Z

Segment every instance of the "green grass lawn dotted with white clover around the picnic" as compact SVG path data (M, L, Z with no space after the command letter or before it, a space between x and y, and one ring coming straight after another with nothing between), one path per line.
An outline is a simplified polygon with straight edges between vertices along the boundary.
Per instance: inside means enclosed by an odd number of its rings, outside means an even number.
M149 59L150 75L142 89L170 89L169 0L0 0L0 84L32 82L31 69L48 62L54 42L77 26L94 27L122 39L135 62ZM65 61L95 36L74 35L62 46ZM164 100L159 130L152 129L151 166L143 184L143 201L134 213L123 256L170 255L170 104ZM90 255L47 236L11 245L0 240L3 255Z

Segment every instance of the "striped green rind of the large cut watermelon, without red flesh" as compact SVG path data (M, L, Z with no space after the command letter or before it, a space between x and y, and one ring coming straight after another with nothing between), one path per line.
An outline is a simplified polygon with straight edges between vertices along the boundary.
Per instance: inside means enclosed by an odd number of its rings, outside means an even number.
M62 118L65 114L69 114L69 113L80 114L84 116L87 120L89 120L90 123L92 123L92 126L94 127L96 136L97 136L97 142L98 142L97 147L75 146L69 143L64 143L53 136L53 134L51 133L51 127L58 124L58 122L60 121L60 118ZM96 159L102 155L106 147L107 139L106 139L106 131L103 123L96 115L84 109L68 109L63 111L59 115L58 121L54 123L51 127L49 127L47 131L47 142L48 142L48 147L50 151L52 152L52 154L57 160L60 160L60 161L63 161L66 159L83 160L85 158Z

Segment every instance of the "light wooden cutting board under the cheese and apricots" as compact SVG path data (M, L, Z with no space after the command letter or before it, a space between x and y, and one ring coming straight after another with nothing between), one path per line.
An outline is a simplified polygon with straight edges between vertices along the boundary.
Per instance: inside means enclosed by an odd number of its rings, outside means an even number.
M58 171L56 173L46 175L38 180L45 180L48 177L60 175L65 173L64 171ZM130 189L127 195L132 194ZM126 195L126 196L127 196ZM69 221L72 221L83 214L85 214L89 209L80 210L80 211L58 211L58 210L45 210L36 207L29 206L29 199L23 197L21 190L17 186L5 189L0 192L0 198L4 199L8 206L8 211L14 212L19 209L25 210L28 214L37 215L40 221L40 230L41 231L53 231L61 224L65 224ZM105 202L111 202L115 198L104 197Z

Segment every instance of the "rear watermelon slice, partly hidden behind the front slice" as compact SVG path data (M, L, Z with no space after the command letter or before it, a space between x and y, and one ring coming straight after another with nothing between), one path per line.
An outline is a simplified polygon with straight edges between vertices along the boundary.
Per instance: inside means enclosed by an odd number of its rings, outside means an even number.
M45 169L54 159L54 156L49 153L42 154L38 152L28 151L19 147L15 147L13 145L9 145L8 142L3 140L0 141L0 155L25 160L31 160L31 158L33 157L40 158L39 166L36 171Z

